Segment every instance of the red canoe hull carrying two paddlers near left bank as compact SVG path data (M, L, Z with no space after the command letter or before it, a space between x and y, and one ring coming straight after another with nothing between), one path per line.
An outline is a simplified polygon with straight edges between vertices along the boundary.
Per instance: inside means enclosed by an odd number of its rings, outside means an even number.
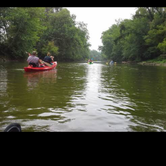
M28 67L24 67L24 70L26 72L31 72L31 71L45 71L45 70L51 70L54 69L57 66L57 61L53 62L53 65L50 66L44 66L44 67L32 67L32 66L28 66Z

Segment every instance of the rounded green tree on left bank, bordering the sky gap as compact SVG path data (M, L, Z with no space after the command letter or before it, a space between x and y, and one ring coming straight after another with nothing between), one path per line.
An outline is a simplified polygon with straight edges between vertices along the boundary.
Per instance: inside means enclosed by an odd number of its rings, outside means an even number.
M67 9L62 9L59 12L47 11L45 24L47 29L37 44L41 54L45 48L49 49L46 45L51 41L55 45L53 52L57 55L57 60L81 60L88 56L86 26L81 24L84 29L76 27L74 17L70 16Z

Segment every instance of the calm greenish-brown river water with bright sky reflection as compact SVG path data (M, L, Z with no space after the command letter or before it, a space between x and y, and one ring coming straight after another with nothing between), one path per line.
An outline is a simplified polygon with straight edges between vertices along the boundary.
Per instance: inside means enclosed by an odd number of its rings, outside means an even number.
M0 131L166 131L166 67L0 63Z

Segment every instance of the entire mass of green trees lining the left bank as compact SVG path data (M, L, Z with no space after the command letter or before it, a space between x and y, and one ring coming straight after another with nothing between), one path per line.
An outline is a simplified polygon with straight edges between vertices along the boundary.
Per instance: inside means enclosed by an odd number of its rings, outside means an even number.
M49 51L56 60L88 59L88 30L75 18L62 7L0 7L0 56L25 59L36 50L40 58Z

